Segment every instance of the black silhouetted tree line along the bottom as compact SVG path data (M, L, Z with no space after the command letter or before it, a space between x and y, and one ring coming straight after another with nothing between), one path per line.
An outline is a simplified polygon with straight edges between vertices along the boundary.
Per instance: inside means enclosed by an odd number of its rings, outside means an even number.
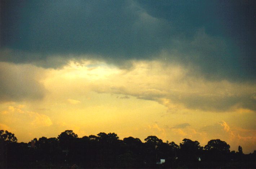
M0 168L256 168L256 150L230 151L220 139L204 147L190 139L179 145L156 136L144 141L104 132L79 138L66 130L57 138L18 143L13 133L0 130Z

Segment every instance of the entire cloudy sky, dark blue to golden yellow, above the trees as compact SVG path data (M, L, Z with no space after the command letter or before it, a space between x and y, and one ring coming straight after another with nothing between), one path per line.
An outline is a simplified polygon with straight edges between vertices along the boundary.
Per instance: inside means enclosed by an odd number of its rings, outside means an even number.
M1 0L0 129L256 150L256 1Z

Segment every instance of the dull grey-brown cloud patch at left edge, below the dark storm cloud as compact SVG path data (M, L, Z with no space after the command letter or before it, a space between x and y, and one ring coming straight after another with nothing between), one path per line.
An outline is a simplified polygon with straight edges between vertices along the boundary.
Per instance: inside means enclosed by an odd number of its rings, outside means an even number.
M32 65L0 62L0 102L39 100L45 95L42 70Z

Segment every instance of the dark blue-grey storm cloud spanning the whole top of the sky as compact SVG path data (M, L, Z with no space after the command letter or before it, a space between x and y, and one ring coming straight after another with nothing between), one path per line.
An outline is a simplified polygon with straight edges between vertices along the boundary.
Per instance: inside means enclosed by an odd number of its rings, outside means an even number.
M65 59L50 57L75 56L123 66L164 51L166 61L193 64L207 77L255 79L255 6L253 1L1 1L1 61L56 67ZM6 50L16 55L3 56ZM20 55L24 52L29 54Z

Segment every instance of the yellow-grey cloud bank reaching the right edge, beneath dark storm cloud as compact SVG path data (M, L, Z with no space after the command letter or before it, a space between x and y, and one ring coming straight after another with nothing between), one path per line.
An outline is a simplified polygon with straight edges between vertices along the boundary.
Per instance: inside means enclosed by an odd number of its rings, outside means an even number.
M164 65L158 62L135 64L133 70L94 83L93 90L154 100L167 106L171 112L176 112L182 106L216 112L234 111L237 108L256 110L254 83L213 81L177 64Z

